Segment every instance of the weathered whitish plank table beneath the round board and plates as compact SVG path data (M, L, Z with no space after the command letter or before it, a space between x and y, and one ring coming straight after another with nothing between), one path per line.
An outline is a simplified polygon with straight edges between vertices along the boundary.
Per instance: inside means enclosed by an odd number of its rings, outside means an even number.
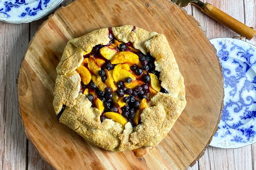
M207 2L246 25L256 27L256 0L208 0ZM200 12L197 7L189 5L184 9L199 21L207 38L238 36ZM22 57L29 40L46 19L29 24L8 24L0 21L0 169L52 169L40 158L25 136L19 117L16 93L16 78ZM256 37L249 42L256 45ZM189 169L256 170L255 163L256 143L239 149L208 147L202 158Z

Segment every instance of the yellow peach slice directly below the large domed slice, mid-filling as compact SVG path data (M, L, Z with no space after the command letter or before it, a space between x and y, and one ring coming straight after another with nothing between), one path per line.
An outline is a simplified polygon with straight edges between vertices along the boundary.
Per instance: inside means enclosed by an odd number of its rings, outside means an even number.
M135 80L136 77L131 74L130 72L128 72L125 69L122 69L122 65L118 64L116 65L116 67L113 70L113 79L115 82L118 81L125 81L125 78L130 77L132 80Z

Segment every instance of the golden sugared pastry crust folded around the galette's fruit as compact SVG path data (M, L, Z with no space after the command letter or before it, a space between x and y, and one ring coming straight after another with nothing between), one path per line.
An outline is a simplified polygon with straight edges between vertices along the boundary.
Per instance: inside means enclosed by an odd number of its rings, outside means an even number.
M60 122L69 126L84 139L112 152L122 152L142 146L157 145L170 131L186 106L184 79L179 72L173 52L164 35L148 32L133 26L113 27L113 35L119 41L132 42L133 46L156 59L154 64L160 72L161 86L169 94L158 92L151 98L153 106L141 113L141 123L121 124L111 119L100 121L101 111L92 108L92 103L79 93L81 78L75 71L83 61L83 52L90 51L98 44L109 43L107 28L95 30L80 38L70 40L57 66L54 91L54 110L58 114L63 105L66 108Z

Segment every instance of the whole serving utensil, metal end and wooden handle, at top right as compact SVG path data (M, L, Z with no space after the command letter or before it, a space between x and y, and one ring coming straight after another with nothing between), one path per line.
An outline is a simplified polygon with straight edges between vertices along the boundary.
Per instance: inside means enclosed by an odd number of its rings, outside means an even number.
M230 15L224 13L222 10L219 10L218 8L214 7L213 5L207 2L204 3L199 0L171 0L171 1L176 5L178 5L179 7L185 7L188 4L196 5L207 16L225 25L229 29L238 33L242 37L247 38L248 40L251 40L256 35L256 31L254 29L246 26L242 22L238 21L237 19L231 17Z

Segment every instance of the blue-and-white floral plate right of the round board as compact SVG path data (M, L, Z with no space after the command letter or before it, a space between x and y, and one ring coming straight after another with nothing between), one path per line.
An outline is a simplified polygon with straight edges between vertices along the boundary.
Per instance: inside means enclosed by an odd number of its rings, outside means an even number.
M223 68L224 108L210 146L240 148L256 142L256 47L232 38L214 38Z

